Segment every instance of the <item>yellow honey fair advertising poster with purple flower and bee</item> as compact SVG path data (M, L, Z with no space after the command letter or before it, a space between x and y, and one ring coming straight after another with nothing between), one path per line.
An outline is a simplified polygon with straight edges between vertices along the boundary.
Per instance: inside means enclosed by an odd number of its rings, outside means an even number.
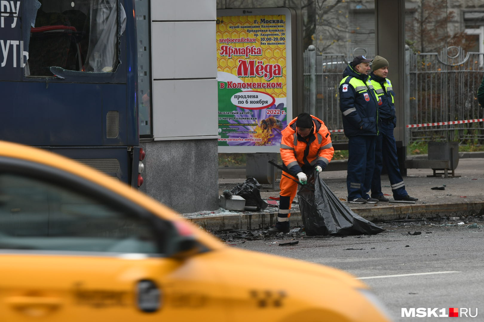
M279 152L292 119L289 11L217 13L219 152Z

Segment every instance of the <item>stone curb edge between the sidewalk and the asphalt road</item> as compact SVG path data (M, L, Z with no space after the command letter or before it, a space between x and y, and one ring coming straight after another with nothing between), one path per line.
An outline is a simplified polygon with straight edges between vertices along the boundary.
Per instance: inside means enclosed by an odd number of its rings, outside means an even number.
M459 202L448 204L418 204L405 206L385 206L378 208L353 208L359 214L371 222L383 222L391 220L421 219L434 217L462 217L468 215L484 215L484 201ZM208 231L221 231L230 229L263 229L275 224L277 211L240 213L229 215L204 215L197 217L185 217L193 224ZM291 213L291 226L302 224L301 212Z

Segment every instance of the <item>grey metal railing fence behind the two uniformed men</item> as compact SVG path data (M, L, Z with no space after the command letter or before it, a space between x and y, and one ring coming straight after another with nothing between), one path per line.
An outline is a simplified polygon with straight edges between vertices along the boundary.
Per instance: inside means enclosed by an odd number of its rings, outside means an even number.
M453 55L449 55L450 51L454 51ZM408 124L484 118L484 109L477 101L477 90L484 77L483 55L466 54L455 47L440 54L410 54L408 51L405 102ZM311 59L316 61L315 68L311 68ZM317 55L308 50L304 53L305 111L315 111L332 130L343 128L338 87L347 62L343 54ZM332 133L332 140L348 141L343 133ZM419 140L484 144L484 122L409 128L406 141Z

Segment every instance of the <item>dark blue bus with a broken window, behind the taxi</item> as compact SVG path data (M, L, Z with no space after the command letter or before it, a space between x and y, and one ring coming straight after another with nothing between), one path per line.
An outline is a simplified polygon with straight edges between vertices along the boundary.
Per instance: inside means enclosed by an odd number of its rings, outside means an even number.
M48 149L139 187L138 101L149 100L149 87L138 92L134 1L0 3L0 140Z

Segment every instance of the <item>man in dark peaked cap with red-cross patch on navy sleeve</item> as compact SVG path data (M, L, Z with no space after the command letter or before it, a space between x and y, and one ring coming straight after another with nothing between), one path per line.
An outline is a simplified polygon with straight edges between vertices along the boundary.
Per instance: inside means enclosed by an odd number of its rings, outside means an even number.
M378 98L368 76L371 61L365 56L356 56L339 84L343 128L348 137L348 202L354 204L378 202L368 195L378 136Z

